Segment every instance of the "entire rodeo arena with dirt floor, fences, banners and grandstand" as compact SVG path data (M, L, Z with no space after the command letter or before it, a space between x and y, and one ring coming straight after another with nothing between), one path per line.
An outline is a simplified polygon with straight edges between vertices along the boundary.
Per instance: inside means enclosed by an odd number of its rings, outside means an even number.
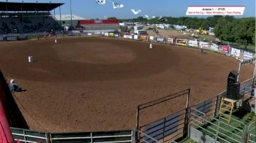
M63 5L0 2L0 142L256 142L255 53Z

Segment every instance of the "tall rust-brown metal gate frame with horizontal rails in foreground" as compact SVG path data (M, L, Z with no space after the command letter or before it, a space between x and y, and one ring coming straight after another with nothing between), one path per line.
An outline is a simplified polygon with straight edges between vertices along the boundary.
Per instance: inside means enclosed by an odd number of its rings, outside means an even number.
M181 107L181 110L171 115L167 115L161 119L155 120L152 123L141 123L140 116L141 111L151 107L157 106L157 104L167 103L174 98L185 96L187 99L186 105ZM137 108L137 131L138 142L170 142L178 139L182 136L187 136L187 107L189 107L190 89L182 90L178 93L159 98L154 101L150 101L146 104L140 104ZM165 106L171 107L171 104L165 104ZM144 115L145 116L145 115Z

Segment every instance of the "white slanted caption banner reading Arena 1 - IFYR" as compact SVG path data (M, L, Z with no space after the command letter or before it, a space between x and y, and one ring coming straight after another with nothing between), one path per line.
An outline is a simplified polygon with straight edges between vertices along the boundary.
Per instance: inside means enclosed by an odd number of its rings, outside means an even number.
M244 6L189 6L186 15L243 15Z

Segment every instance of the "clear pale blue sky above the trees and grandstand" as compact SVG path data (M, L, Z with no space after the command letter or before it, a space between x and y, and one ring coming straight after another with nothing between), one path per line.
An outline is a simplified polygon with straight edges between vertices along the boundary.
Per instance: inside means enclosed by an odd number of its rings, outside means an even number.
M6 1L6 0L0 0ZM8 0L21 2L22 0ZM61 15L70 14L70 0L23 0L24 2L62 2ZM99 5L95 0L71 0L72 14L82 18L137 18L138 16L186 16L188 6L245 6L244 15L241 17L255 17L255 0L107 0L106 4ZM113 9L112 3L124 4L124 8ZM130 9L141 9L138 15L134 15ZM59 8L56 9L59 15Z

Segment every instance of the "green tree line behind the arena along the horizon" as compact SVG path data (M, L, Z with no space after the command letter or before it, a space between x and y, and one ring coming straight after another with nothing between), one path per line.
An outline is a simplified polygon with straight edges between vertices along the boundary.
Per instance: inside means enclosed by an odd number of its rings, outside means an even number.
M143 17L122 19L121 22L139 22L150 24L173 24L187 26L187 28L214 28L215 36L227 42L236 42L241 45L255 45L255 18L234 18L233 16L215 15L208 18L152 18Z

